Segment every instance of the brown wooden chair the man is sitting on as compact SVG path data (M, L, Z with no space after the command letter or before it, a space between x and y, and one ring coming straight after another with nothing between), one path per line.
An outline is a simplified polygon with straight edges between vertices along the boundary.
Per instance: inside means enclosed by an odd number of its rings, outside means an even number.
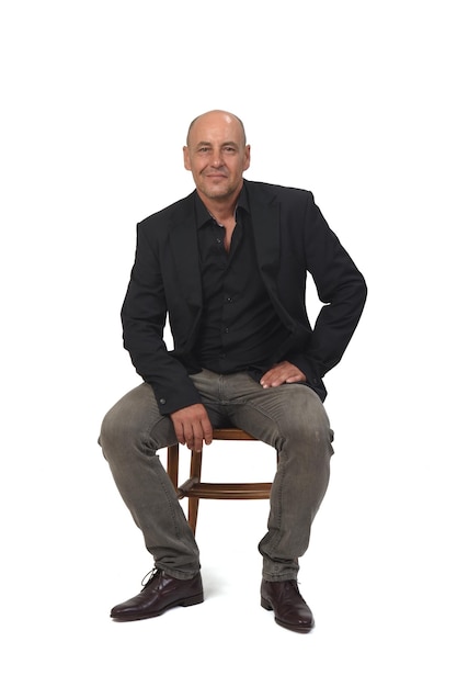
M237 427L214 429L213 439L215 441L256 441L254 437ZM190 476L179 486L179 462L180 444L170 446L167 455L167 469L179 498L188 498L188 523L195 533L197 527L198 503L201 498L270 498L272 487L271 482L249 482L249 483L208 483L202 482L202 460L203 451L191 452ZM276 460L278 454L276 452Z

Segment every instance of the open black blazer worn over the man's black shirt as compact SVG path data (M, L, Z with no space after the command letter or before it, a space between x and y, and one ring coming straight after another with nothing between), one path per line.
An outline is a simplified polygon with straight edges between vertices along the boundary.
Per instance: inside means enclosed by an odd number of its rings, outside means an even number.
M366 284L309 191L244 181L258 263L272 307L290 331L287 360L305 372L322 401L322 378L341 359L361 317ZM122 308L124 346L151 384L163 415L201 403L188 374L202 315L194 195L137 227L135 263ZM324 303L311 329L307 272ZM163 342L169 316L174 350Z

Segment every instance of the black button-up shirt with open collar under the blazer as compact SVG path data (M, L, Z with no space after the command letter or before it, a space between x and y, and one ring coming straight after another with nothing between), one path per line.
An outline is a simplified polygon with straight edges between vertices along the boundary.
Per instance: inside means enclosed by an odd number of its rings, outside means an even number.
M195 211L204 305L195 350L198 363L221 374L264 371L278 362L288 331L259 271L245 190L238 200L228 252L225 228L198 196Z

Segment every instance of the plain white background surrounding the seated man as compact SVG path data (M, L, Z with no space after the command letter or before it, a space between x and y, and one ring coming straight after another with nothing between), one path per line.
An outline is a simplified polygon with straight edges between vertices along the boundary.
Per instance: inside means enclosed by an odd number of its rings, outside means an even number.
M2 3L4 685L456 684L452 10ZM139 382L118 316L135 226L191 192L182 145L213 108L244 121L247 178L310 189L369 286L325 379L335 455L300 572L307 637L259 604L266 502L202 504L205 604L108 619L150 566L96 444ZM236 473L267 478L267 451L240 450Z

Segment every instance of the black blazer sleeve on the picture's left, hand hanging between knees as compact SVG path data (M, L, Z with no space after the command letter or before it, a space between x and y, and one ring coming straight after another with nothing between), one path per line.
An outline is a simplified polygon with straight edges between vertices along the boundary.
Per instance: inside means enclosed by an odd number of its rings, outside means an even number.
M152 386L160 413L169 415L202 399L185 367L163 340L168 308L161 252L160 241L152 240L149 224L139 223L135 262L121 318L124 347L138 374Z

